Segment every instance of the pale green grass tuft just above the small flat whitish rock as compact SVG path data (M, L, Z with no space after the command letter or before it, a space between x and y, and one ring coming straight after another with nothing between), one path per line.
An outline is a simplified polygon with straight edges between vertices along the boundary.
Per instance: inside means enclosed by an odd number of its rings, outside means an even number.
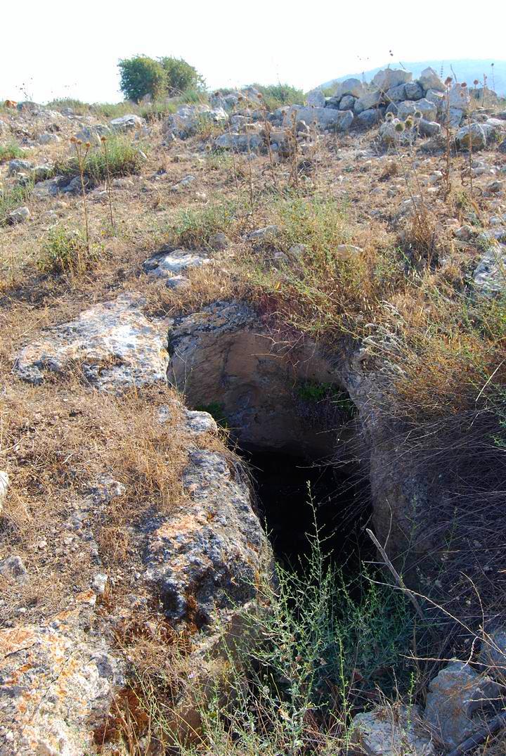
M187 248L208 246L218 231L225 234L233 227L239 206L232 200L202 208L184 208L177 212L168 229L169 243Z

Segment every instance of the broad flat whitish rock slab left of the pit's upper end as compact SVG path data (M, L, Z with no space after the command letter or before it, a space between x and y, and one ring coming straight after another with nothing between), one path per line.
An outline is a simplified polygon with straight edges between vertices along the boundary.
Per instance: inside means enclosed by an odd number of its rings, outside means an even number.
M137 296L94 305L75 321L54 326L17 355L14 372L29 383L79 365L92 386L121 391L165 381L168 354L162 328L147 320Z

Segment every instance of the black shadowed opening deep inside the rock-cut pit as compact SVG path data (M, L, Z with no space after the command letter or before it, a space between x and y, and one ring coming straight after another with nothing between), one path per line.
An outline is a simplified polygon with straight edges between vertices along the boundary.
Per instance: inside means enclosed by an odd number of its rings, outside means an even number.
M358 463L334 464L280 451L244 449L258 513L282 565L304 569L308 534L319 531L332 564L353 574L372 558L365 533L371 516L369 479Z

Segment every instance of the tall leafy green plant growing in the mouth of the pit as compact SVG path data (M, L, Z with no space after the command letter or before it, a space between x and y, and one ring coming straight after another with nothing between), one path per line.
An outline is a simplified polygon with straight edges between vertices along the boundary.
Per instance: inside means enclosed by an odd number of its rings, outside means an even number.
M329 565L315 525L301 572L276 567L257 613L244 618L215 695L202 690L202 742L184 756L341 753L367 694L412 696L412 607L364 573L355 584Z

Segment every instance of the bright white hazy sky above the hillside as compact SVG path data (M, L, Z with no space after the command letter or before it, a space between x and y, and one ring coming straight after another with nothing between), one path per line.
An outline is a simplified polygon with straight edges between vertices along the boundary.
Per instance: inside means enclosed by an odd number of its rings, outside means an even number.
M208 86L304 90L401 60L506 57L506 2L6 0L0 98L119 101L120 57L184 57ZM393 57L390 56L390 50ZM23 91L24 90L24 91Z

